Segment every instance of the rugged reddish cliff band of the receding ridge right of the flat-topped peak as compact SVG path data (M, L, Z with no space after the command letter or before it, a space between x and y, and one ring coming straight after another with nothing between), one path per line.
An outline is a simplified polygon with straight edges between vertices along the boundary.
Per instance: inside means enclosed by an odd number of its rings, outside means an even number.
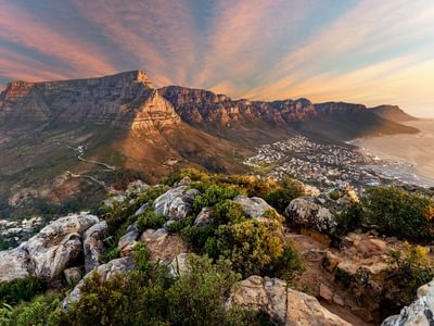
M183 121L227 124L263 121L272 124L306 122L316 117L366 111L365 105L343 102L312 104L307 99L273 102L232 100L202 89L169 86L158 89Z

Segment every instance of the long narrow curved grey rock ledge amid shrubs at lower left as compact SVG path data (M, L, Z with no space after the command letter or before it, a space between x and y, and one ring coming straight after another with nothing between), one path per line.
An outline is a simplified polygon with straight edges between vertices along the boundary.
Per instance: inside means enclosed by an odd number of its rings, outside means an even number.
M98 273L100 276L101 281L106 281L107 279L112 278L113 276L117 274L126 274L128 272L131 272L132 269L136 268L136 263L131 256L124 256L120 259L116 259L113 261L110 261L106 264L98 266L93 272L87 274L74 288L74 290L69 293L69 296L63 301L63 309L67 310L68 305L73 302L77 302L80 299L81 296L81 287L85 284L85 280L93 273Z

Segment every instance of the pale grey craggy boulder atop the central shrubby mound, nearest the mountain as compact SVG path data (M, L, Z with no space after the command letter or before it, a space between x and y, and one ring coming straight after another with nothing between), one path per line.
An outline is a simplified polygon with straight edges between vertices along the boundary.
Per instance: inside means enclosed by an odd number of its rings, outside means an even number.
M189 189L188 186L171 188L153 203L155 213L164 215L167 220L183 220L190 213L194 198L201 192L196 189Z

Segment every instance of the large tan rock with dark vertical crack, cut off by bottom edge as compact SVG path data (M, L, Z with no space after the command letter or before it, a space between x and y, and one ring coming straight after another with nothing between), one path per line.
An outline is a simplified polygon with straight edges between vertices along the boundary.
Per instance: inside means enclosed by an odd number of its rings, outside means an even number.
M324 309L316 298L294 291L283 280L251 276L232 291L227 304L264 311L279 325L350 325Z

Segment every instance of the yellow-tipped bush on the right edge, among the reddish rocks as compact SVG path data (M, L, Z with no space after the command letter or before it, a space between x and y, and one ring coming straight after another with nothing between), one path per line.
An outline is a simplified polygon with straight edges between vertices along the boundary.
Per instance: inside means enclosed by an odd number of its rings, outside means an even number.
M404 254L395 252L398 269L396 280L400 289L401 304L410 304L416 299L419 287L434 278L434 261L420 246L404 243Z

